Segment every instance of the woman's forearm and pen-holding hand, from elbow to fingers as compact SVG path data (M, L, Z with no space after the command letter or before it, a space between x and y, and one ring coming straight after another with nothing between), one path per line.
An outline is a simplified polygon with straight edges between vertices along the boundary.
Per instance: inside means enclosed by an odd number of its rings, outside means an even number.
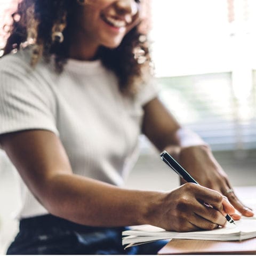
M166 230L189 231L198 227L213 229L226 223L221 213L222 196L191 183L162 193L121 189L74 174L58 174L47 187L45 196L41 197L47 209L83 225L151 224ZM196 198L217 208L207 209ZM203 223L202 218L194 219L200 214L206 218ZM195 226L191 226L191 221Z

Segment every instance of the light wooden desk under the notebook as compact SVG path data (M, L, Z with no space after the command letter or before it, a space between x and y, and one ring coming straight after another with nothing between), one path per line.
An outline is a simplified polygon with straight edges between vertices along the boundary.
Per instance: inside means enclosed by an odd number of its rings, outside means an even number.
M245 205L256 210L256 187L237 187L235 191ZM240 242L172 239L158 254L256 254L256 238Z

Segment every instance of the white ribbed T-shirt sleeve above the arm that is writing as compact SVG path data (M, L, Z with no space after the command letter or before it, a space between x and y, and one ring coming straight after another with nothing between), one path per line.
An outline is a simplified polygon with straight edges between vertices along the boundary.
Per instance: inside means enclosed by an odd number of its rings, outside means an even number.
M58 135L51 90L33 71L0 65L0 134L42 129Z

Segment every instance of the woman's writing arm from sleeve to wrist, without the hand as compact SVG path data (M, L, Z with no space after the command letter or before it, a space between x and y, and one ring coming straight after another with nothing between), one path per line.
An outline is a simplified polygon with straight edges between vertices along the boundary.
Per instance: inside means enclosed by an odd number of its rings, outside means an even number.
M145 221L146 198L157 196L75 175L52 132L10 133L2 136L1 143L30 191L59 217L92 226L138 225Z

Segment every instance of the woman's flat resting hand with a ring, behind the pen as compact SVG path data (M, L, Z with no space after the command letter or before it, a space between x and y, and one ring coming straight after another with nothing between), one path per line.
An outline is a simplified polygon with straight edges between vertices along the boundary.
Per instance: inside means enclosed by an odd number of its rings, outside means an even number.
M226 196L235 209L247 217L253 216L253 212L246 207L235 195L227 174L222 170L207 146L194 146L183 148L179 154L180 164L202 186L219 191ZM183 180L182 183L185 183ZM241 218L234 214L234 220Z

